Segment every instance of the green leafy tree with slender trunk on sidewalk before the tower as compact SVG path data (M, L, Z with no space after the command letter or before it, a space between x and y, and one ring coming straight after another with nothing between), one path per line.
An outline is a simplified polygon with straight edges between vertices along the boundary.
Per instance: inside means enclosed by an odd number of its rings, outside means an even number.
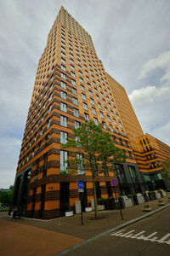
M121 163L126 160L126 155L114 145L111 134L102 131L101 125L93 122L85 122L74 130L75 137L68 137L68 142L61 148L71 148L76 157L69 159L69 166L66 173L83 172L84 169L92 173L94 188L94 210L95 218L98 218L97 196L95 177L99 173L107 174L114 171L114 163Z

